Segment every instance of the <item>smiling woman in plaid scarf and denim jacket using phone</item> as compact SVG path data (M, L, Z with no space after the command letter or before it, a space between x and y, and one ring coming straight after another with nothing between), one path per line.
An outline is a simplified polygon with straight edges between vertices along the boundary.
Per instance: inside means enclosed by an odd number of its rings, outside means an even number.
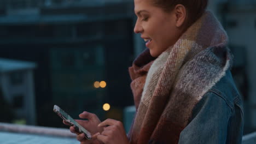
M81 143L241 143L243 109L228 37L207 0L135 0L135 33L147 50L129 68L136 116L128 136L114 119L78 120ZM108 125L108 127L104 127ZM71 127L72 133L76 133Z

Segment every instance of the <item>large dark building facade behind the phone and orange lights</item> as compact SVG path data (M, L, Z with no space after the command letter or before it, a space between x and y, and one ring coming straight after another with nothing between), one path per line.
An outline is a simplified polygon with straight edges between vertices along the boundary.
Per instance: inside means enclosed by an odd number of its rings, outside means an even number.
M121 109L133 104L128 73L134 58L132 3L4 11L0 56L38 64L34 80L39 125L63 127L53 113L55 104L74 118L86 110L102 120L122 120ZM95 88L96 81L107 86ZM112 109L103 111L104 103Z

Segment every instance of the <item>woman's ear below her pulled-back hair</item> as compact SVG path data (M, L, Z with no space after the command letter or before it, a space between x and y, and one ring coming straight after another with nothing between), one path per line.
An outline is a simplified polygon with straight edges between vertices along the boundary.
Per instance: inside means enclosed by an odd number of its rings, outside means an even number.
M181 28L185 23L187 17L187 10L182 4L177 4L174 8L174 13L176 16L176 27Z

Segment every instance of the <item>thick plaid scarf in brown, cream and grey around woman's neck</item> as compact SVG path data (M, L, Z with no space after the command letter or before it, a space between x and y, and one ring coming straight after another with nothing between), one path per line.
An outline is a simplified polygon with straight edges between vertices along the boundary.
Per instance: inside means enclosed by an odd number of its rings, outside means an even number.
M208 11L158 58L145 50L129 68L136 115L130 143L178 143L194 106L231 67L228 37Z

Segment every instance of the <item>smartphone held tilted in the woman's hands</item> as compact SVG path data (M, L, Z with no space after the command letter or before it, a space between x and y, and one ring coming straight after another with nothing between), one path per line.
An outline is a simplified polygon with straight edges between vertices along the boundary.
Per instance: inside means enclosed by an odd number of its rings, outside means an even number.
M69 116L59 106L54 105L54 112L57 113L57 115L59 115L64 121L74 126L76 131L78 131L79 133L84 133L86 139L88 140L91 139L91 133L88 130L86 130L84 127L82 127L82 125L77 123L71 116Z

